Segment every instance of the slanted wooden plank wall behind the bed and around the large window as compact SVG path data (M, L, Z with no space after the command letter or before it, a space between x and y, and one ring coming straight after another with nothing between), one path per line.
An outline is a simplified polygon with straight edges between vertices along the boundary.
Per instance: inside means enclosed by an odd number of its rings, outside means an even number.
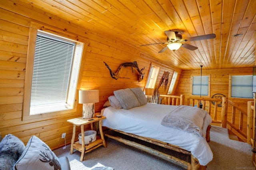
M26 71L26 55L28 49L28 33L30 21L41 22L72 34L86 38L89 45L86 51L86 61L81 82L81 89L99 89L100 102L96 103L96 112L103 108L103 104L113 95L114 90L127 87L141 87L144 89L148 71L152 62L162 65L160 75L169 71L169 80L174 69L163 63L139 53L136 48L122 43L112 37L99 35L93 30L48 14L32 6L24 6L22 2L13 3L9 0L0 2L0 132L2 136L14 134L25 144L32 135L41 138L50 148L58 148L65 144L61 134L66 132L66 141L70 143L72 125L68 119L82 116L82 104L73 114L65 114L56 119L46 121L21 121L24 93L24 79ZM144 80L138 82L137 73L130 68L122 71L123 79L112 79L103 61L115 71L121 63L137 61L139 68L145 67ZM181 70L176 69L181 74ZM159 82L159 80L158 80ZM156 84L158 85L158 84ZM86 127L88 128L88 127ZM79 128L76 129L77 136Z

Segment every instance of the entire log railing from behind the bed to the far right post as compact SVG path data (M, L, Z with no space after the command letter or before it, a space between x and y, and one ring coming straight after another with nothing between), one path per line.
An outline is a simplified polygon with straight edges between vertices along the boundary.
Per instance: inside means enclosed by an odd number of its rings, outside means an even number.
M227 101L226 97L222 99L215 98L205 98L205 97L188 97L186 98L187 103L184 103L184 95L174 96L174 95L159 95L162 97L162 104L164 105L184 105L193 107L200 107L202 104L202 109L208 111L211 115L212 123L219 123L221 127L227 128L227 125L236 130L239 134L247 139L248 144L252 144L251 139L254 134L254 102L248 101L248 110L244 111L241 107L233 103L232 101ZM220 110L221 107L221 112ZM231 107L231 122L228 121L228 107ZM239 120L236 121L236 114L239 112ZM212 115L213 114L213 115ZM244 130L244 117L247 117L247 129ZM239 123L236 123L239 122ZM246 132L245 132L246 131Z

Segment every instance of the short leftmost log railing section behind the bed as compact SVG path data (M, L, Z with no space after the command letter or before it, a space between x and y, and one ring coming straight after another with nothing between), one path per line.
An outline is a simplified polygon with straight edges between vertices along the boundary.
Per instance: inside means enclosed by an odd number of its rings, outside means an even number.
M174 96L174 95L159 95L162 97L162 103L164 105L184 105L184 95Z

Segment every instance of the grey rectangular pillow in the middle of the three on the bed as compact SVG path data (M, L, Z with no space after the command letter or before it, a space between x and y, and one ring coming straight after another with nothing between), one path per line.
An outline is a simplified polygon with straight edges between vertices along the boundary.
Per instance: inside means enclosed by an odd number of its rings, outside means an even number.
M129 88L116 90L114 91L114 95L126 110L140 106L136 95Z

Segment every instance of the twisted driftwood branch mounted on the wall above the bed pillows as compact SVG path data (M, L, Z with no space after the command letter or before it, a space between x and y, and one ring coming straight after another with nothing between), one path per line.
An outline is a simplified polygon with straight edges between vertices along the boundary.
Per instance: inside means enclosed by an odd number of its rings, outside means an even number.
M137 64L136 61L122 63L121 65L119 65L119 67L116 70L116 72L113 72L106 62L104 62L104 63L107 66L107 68L109 69L110 75L111 75L111 77L113 79L117 80L118 78L120 78L120 70L123 69L123 68L126 68L126 67L132 67L132 72L134 72L134 69L136 69L138 71L138 73L139 73L139 75L138 75L138 82L142 81L143 78L144 78L144 73L142 73L142 71L145 69L145 67L143 69L139 69L138 64ZM126 78L126 77L121 77L121 78Z

